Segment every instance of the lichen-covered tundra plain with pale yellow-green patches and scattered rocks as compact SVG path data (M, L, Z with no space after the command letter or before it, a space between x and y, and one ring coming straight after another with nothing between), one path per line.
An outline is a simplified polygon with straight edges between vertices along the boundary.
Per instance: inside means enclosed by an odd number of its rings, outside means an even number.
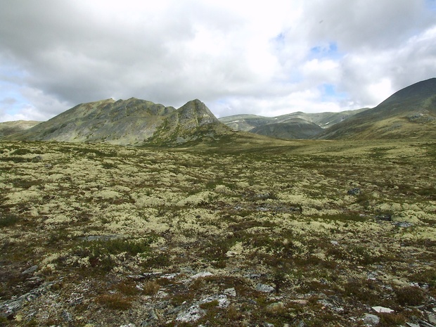
M364 326L371 306L395 310L378 326L424 319L435 148L232 133L192 148L4 141L0 303L31 300L0 324ZM189 309L195 321L181 319Z

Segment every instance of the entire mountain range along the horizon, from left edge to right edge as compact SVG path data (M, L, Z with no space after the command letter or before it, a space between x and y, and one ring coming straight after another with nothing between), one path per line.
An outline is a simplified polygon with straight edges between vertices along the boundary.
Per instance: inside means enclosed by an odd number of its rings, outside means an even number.
M218 120L199 100L175 109L137 98L110 98L76 105L46 122L0 123L1 139L132 146L231 142L253 138L253 133L279 139L433 139L436 78L407 86L375 108L341 113L233 115Z

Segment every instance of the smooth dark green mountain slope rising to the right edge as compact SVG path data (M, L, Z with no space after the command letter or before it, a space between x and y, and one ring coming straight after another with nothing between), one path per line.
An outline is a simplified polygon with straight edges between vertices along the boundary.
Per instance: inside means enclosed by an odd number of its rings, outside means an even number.
M435 138L436 78L412 84L325 129L316 139Z

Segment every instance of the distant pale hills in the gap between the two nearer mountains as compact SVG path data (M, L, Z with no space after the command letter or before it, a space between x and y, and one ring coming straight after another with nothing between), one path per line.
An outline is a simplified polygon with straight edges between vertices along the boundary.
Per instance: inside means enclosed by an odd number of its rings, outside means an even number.
M342 122L366 110L348 110L340 113L290 113L276 117L257 115L233 115L219 118L231 129L252 132L280 139L312 139L323 132L323 128Z

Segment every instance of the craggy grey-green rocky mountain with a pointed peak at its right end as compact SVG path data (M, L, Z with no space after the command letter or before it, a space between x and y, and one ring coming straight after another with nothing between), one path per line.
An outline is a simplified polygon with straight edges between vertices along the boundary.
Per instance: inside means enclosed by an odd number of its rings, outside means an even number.
M110 98L76 105L5 139L175 146L229 131L199 100L175 109L137 98Z

